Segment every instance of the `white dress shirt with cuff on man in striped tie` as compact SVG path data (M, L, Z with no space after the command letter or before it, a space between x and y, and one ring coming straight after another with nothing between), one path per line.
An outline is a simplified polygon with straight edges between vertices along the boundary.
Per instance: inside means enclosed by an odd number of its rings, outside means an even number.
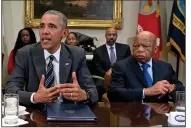
M49 56L53 55L55 57L55 59L52 61L53 72L54 72L54 84L60 84L60 78L59 78L60 50L61 50L61 45L60 45L59 49L54 54L51 54L46 49L44 49L44 59L46 60L46 69L47 69L47 65L48 65L48 63L50 61ZM34 100L33 100L34 94L35 93L32 93L31 98L30 98L32 103L35 103ZM59 99L59 100L61 100L61 99Z

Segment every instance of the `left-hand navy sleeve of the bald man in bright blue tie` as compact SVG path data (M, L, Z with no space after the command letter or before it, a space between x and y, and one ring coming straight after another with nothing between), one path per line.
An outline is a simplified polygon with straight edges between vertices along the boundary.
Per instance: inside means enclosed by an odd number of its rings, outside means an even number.
M115 63L113 66L111 85L107 94L109 100L141 102L143 98L143 88L125 88L125 71L121 66L119 63Z

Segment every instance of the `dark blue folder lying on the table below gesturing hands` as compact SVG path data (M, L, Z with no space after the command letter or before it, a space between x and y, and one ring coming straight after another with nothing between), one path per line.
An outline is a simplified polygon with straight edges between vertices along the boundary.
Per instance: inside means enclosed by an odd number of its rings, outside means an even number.
M97 121L86 104L47 104L47 121Z

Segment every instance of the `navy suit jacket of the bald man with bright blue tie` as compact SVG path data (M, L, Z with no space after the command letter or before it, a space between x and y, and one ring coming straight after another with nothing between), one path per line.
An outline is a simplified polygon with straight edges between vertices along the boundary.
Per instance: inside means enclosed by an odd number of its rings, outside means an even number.
M184 91L185 88L178 81L172 66L160 60L152 62L153 85L161 80L167 80L176 85L176 90ZM114 64L112 69L111 85L108 91L110 101L138 101L143 99L143 88L147 88L143 71L134 57L130 56ZM173 93L172 93L173 94ZM145 97L145 102L167 102L167 94L159 99L159 96Z

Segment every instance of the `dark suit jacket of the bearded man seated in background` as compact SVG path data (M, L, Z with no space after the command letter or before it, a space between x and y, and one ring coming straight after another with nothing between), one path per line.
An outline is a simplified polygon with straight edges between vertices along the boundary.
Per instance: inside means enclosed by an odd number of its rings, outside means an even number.
M131 55L129 45L115 43L117 61L125 59ZM94 73L104 77L105 73L111 68L110 58L107 52L106 44L96 48L93 52Z

